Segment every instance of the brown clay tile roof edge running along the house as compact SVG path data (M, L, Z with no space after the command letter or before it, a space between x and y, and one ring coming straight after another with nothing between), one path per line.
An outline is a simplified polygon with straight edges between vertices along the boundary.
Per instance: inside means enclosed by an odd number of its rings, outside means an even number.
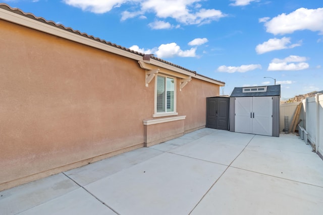
M42 22L42 23L45 23L47 25L51 25L53 27L57 27L57 28L60 28L60 29L63 29L63 30L66 30L66 31L69 31L71 33L74 33L74 34L77 34L77 35L80 35L80 36L83 36L83 37L86 37L86 38L89 38L89 39L92 39L92 40L95 40L95 41L98 41L98 42L101 42L101 43L104 43L106 45L110 45L110 46L113 46L113 47L116 47L116 48L119 48L119 49L122 49L124 51L128 51L128 52L131 52L131 53L134 53L134 54L137 54L137 55L140 55L140 56L144 56L145 54L144 53L140 53L138 51L134 51L134 50L131 50L129 48L126 48L126 47L123 47L121 45L117 45L115 43L112 43L112 42L109 42L109 41L105 41L105 40L102 40L98 37L94 37L92 35L88 35L86 33L82 33L78 30L74 30L70 27L65 27L64 25L62 24L57 24L53 21L47 21L45 20L44 18L42 17L36 17L35 15L31 14L31 13L25 13L23 12L22 10L20 9L17 9L17 8L11 8L9 5L5 4L5 3L0 3L0 8L1 9L4 9L4 10L7 10L7 11L10 11L10 12L13 12L13 13L16 13L16 14L19 14L21 16L24 16L24 17L28 17L30 19L33 19L33 20L36 20L38 22ZM192 71L190 69L187 69L187 68L184 68L182 66L179 66L179 65L176 65L174 63L171 63L169 61L166 61L166 60L163 60L163 59L160 59L160 58L157 58L157 57L154 57L154 56L150 56L151 59L154 59L154 60L158 60L160 62L163 62L163 63L166 63L166 64L169 64L169 65L172 65L174 67L177 67L177 68L180 68L180 69L183 69L183 70L186 70L186 71L189 71L190 73L194 74L194 75L198 75L198 76L201 76L201 77L204 77L204 78L207 78L209 80L213 80L213 81L216 81L216 82L219 82L219 83L222 83L222 84L225 84L225 82L221 82L221 81L218 81L218 80L215 80L215 79L211 79L211 78L208 78L206 76L203 76L203 75L200 75L200 74L197 74L196 71Z

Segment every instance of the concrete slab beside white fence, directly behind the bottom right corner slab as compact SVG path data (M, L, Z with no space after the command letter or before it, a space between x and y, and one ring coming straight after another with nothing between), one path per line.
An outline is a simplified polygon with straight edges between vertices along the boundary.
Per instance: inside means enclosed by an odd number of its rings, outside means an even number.
M232 166L323 187L322 160L313 155L248 146Z

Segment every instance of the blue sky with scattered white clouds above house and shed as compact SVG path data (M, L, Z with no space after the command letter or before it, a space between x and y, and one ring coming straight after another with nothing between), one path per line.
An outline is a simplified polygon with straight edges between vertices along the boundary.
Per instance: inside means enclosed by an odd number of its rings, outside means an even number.
M323 90L321 0L3 3L226 82L221 95L273 79L283 99Z

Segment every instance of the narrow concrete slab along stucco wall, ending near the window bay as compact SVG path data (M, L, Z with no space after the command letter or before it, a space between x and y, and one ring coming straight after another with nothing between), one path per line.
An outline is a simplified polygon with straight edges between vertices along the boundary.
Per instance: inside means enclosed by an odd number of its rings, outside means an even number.
M146 161L163 152L149 148L140 148L131 152L104 159L91 165L86 165L65 172L65 174L76 181L81 186L97 181L101 178L115 174L121 170L132 167L138 163Z

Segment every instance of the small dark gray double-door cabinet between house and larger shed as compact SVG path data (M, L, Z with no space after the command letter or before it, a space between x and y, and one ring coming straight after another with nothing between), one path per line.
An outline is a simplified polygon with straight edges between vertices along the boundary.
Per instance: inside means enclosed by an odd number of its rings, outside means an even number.
M229 102L227 97L212 97L206 99L206 126L229 130Z

